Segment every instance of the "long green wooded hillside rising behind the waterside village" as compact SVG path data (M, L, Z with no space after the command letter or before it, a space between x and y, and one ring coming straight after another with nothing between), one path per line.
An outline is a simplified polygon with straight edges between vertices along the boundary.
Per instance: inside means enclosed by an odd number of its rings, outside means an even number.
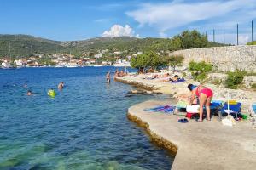
M196 37L191 40L191 35ZM220 43L208 42L204 35L197 31L184 31L173 38L136 38L136 37L96 37L83 41L59 42L27 35L0 35L0 57L27 57L33 54L72 53L76 56L93 55L100 50L108 49L106 55L113 56L114 51L124 55L138 51L153 50L174 51L183 48L205 48L223 46Z

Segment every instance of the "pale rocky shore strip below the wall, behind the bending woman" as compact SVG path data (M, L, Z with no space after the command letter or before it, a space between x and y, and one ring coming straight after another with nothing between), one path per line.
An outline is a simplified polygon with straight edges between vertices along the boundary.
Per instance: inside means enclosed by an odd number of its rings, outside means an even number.
M157 80L144 79L143 75L128 75L125 77L118 77L116 78L116 81L130 84L137 88L142 88L145 91L152 91L154 94L171 94L174 98L177 98L177 96L181 94L189 94L189 90L187 88L189 83L196 85L199 84L199 82L195 82L192 79L187 79L186 82L180 83L159 82ZM256 101L256 92L253 90L228 89L218 87L209 82L204 85L206 85L208 88L212 88L214 92L213 99L223 101L228 99L236 99L237 101L240 101L242 103L241 111L243 114L247 114L249 106Z

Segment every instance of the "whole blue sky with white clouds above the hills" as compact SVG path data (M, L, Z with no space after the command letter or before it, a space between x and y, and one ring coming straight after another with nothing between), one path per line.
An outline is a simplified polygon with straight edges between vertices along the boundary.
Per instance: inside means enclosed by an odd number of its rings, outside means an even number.
M256 0L0 0L0 34L58 41L92 37L173 37L185 30L212 41L251 41ZM256 37L254 36L254 40Z

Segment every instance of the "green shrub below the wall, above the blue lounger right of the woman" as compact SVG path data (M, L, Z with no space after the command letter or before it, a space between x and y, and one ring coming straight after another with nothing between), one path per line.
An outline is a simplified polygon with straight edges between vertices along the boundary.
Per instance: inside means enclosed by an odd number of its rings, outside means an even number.
M232 89L239 88L245 74L246 74L246 71L240 71L240 70L236 70L234 72L228 71L228 77L225 81L225 86L227 88L232 88Z

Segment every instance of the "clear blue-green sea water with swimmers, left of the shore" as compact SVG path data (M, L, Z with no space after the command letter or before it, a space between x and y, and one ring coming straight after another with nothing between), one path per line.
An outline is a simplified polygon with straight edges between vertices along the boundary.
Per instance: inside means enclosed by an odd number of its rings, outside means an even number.
M126 118L153 97L125 97L131 86L105 83L114 69L0 69L0 169L170 169L173 157Z

